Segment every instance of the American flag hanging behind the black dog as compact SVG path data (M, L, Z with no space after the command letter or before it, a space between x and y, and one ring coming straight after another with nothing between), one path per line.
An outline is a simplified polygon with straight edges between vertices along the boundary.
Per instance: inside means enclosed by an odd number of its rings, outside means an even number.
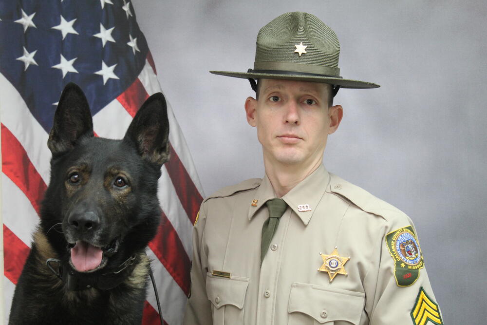
M161 91L146 39L127 0L0 2L0 116L5 324L49 180L56 102L73 81L98 136L120 139L144 100ZM168 103L171 158L162 168L163 213L148 255L166 324L181 324L189 293L191 230L201 185ZM143 324L158 324L149 288Z

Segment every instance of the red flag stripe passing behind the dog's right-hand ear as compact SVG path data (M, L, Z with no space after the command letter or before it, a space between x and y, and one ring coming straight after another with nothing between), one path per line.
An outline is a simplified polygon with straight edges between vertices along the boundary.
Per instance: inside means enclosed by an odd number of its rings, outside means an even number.
M140 82L139 79L135 79L130 87L118 96L117 99L133 117L148 97L149 95L142 82ZM200 209L200 204L203 201L203 197L191 180L183 162L174 151L172 145L170 145L170 151L171 158L166 163L166 169L168 170L169 177L171 178L179 200L181 201L189 220L193 224L198 210Z

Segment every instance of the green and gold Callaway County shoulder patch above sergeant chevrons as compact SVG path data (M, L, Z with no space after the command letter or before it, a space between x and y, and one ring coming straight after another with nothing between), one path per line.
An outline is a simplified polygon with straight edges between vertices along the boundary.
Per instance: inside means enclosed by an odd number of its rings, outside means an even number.
M394 260L394 277L399 287L416 282L424 267L423 254L412 226L400 228L386 235L386 244Z

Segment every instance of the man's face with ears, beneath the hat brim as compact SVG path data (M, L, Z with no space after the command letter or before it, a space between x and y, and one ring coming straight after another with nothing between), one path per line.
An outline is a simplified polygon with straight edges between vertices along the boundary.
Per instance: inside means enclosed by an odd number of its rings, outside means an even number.
M261 79L256 100L245 102L247 121L257 127L266 166L306 168L321 163L328 134L342 117L341 106L328 107L328 84Z

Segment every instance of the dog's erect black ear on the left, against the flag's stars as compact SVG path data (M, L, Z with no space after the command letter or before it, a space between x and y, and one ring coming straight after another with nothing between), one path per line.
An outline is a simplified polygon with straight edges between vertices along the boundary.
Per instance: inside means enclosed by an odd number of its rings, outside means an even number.
M53 155L65 153L73 149L82 136L93 136L93 120L85 94L70 82L57 104L47 146Z

